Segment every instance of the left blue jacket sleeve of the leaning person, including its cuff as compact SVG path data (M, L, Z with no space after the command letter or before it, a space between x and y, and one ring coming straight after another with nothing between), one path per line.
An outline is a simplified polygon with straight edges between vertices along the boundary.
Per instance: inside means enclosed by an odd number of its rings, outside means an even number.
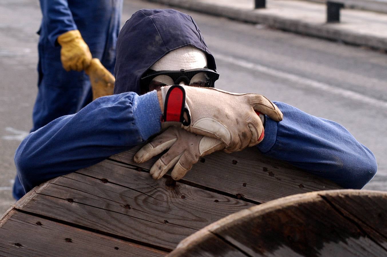
M100 97L76 114L55 119L30 133L15 152L24 191L142 143L160 131L160 116L152 91Z

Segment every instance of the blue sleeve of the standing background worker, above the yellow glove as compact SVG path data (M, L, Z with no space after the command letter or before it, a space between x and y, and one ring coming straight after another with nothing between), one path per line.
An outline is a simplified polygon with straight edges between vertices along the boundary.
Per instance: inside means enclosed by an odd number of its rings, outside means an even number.
M46 26L45 31L52 46L55 46L58 36L77 29L67 0L40 0L40 8L42 26Z

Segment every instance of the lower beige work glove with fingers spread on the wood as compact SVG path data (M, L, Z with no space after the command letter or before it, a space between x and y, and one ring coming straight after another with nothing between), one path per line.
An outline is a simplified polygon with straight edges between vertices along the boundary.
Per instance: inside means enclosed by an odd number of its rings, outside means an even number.
M154 163L150 170L154 179L163 177L174 165L172 178L181 179L200 157L222 150L224 143L215 138L200 136L172 126L144 145L135 154L134 161L146 162L168 148L169 150Z

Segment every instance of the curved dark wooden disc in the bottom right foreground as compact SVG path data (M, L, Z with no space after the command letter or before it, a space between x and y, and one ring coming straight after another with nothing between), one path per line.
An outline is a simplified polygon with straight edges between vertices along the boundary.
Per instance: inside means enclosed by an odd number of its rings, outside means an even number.
M168 256L231 256L234 249L246 256L387 256L387 192L277 199L203 228Z

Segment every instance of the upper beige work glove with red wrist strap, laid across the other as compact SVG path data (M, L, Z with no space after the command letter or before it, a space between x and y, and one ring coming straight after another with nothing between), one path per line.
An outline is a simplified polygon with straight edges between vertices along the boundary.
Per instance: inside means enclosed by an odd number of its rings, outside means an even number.
M274 121L283 118L275 104L258 94L173 85L161 87L158 99L163 128L178 123L192 133L217 138L223 141L227 153L263 140L264 126L256 112Z

